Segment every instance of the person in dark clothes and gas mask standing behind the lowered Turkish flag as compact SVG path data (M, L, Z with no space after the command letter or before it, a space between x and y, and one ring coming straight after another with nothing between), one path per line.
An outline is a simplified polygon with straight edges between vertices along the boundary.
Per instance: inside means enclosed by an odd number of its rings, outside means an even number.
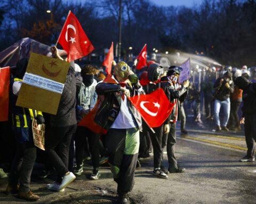
M169 84L167 82L161 82L161 75L164 73L163 66L161 64L152 63L148 66L148 83L143 86L146 94L150 94L158 88L162 88L168 98L169 96ZM154 151L154 171L153 175L158 176L162 179L166 179L168 176L164 173L162 166L162 138L163 133L169 132L170 118L167 118L163 125L153 128L154 132L151 131L148 126L143 123L143 131L148 131ZM161 169L162 167L162 169Z

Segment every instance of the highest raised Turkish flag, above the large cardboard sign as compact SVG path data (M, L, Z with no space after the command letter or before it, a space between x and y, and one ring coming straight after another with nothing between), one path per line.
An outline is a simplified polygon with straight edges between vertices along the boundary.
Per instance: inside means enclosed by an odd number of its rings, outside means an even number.
M69 11L57 43L68 53L68 62L77 60L94 49L76 16Z

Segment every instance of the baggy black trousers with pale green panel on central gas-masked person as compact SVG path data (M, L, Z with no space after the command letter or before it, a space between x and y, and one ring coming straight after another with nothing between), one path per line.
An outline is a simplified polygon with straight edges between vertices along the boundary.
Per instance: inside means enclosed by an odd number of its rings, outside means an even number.
M108 130L105 144L119 195L133 189L140 145L139 137L138 128Z

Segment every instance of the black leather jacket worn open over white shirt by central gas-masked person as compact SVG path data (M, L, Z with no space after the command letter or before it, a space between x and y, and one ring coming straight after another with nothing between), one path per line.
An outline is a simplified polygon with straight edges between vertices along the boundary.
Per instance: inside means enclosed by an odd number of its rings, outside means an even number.
M119 83L106 83L101 82L96 86L96 92L98 95L104 95L104 100L98 109L98 112L94 118L94 122L102 126L102 128L109 130L110 126L116 120L117 115L119 114L121 108L121 85ZM127 83L125 86L126 89L130 90L130 96L145 94L142 87L139 89L135 88L133 85ZM132 112L135 121L138 124L140 131L142 131L142 119L141 115L137 111L137 109L132 105L130 101L129 108Z

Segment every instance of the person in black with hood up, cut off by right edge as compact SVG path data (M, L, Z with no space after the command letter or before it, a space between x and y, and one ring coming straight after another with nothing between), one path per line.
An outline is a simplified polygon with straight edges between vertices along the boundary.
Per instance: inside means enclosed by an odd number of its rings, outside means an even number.
M237 77L235 84L243 90L243 107L241 124L244 124L247 154L240 162L254 162L255 135L256 135L256 83L251 83L245 77Z

